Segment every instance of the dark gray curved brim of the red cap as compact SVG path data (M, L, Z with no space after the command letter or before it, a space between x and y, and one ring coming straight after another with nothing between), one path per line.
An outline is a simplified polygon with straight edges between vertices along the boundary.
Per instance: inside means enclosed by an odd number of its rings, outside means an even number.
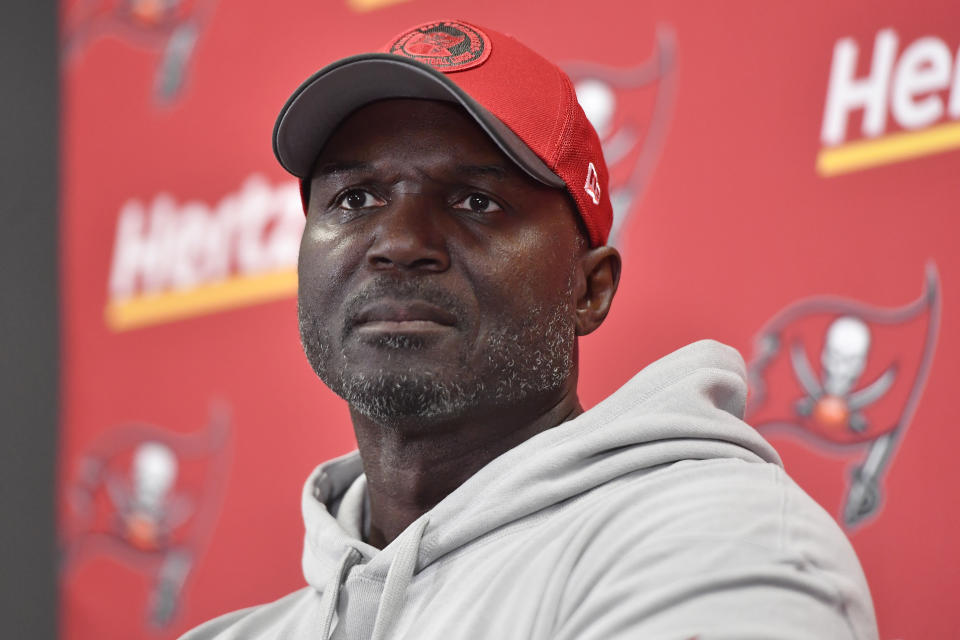
M467 95L443 73L389 53L366 53L338 60L313 74L293 92L273 128L273 153L284 169L308 178L334 129L360 107L386 98L455 102L530 177L557 188L563 179L507 125Z

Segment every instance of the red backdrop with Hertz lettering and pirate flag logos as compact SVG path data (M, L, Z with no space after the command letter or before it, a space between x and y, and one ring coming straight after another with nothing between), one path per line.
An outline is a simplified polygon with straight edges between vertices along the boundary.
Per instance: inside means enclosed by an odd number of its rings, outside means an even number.
M692 340L736 346L881 637L960 633L960 7L277 6L62 2L65 638L173 638L303 584L300 487L354 444L300 351L270 132L326 62L437 17L564 65L604 139L624 273L585 404Z

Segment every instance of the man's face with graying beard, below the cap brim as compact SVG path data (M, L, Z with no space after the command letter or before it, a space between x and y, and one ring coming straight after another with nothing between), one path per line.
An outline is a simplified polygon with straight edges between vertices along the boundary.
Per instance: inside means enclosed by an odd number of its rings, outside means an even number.
M527 177L459 107L385 100L317 160L300 334L355 411L418 423L532 409L576 384L567 195Z

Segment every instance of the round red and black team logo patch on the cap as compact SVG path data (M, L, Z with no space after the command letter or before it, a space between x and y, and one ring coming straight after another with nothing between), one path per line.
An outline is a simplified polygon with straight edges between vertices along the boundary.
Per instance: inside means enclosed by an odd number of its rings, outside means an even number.
M450 73L483 64L490 55L490 38L471 25L443 20L414 27L394 40L387 51Z

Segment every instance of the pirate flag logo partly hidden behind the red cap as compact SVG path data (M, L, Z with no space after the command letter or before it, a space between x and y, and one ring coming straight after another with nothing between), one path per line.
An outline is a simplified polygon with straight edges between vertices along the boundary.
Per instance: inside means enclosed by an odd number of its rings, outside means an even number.
M572 62L564 69L600 137L610 170L613 245L643 197L663 150L676 97L676 42L670 29L661 28L653 54L633 67Z

